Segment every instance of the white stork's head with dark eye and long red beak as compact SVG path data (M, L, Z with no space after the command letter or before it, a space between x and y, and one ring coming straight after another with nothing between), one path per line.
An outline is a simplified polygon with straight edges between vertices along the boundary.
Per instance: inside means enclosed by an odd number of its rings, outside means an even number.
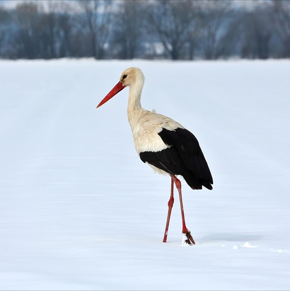
M138 67L130 67L125 69L120 77L120 81L115 87L107 94L107 96L98 104L97 108L106 103L109 99L114 97L117 93L127 86L141 86L144 85L144 75Z

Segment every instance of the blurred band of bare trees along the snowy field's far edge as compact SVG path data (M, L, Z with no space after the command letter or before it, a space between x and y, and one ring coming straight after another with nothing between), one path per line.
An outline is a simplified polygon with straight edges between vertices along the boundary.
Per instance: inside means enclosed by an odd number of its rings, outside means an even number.
M290 1L19 1L0 6L0 58L290 58ZM46 5L44 5L46 4Z

